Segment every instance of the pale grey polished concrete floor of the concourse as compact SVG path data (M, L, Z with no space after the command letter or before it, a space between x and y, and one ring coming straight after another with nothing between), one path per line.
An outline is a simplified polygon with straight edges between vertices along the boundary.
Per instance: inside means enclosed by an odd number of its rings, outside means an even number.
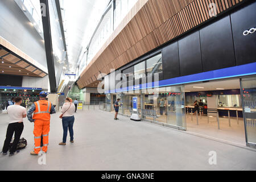
M51 119L46 165L31 156L33 124L24 121L28 146L15 156L0 156L0 170L256 170L256 151L181 131L133 122L112 113L86 110L75 116L75 143L59 146L63 130L59 114ZM0 147L8 117L0 115ZM209 164L216 151L217 165Z

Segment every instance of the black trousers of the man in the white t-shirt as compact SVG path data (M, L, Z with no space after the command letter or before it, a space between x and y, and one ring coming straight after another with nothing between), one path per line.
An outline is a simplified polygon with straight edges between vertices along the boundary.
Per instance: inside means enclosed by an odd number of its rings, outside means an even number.
M22 134L22 131L24 129L23 122L22 123L10 123L7 127L7 132L6 132L6 139L5 139L5 144L3 144L3 153L6 153L9 150L9 146L11 143L11 139L13 138L14 134L14 141L13 141L13 146L10 149L10 153L14 153L16 151L16 148L19 143L20 136Z

